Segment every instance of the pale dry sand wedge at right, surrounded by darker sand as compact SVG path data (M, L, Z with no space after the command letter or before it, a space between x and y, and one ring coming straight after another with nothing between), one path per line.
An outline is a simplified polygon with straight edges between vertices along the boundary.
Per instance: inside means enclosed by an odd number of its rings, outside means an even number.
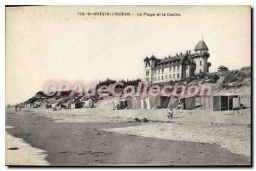
M250 157L250 129L247 125L219 125L192 123L153 123L136 127L108 128L105 131L154 137L162 140L180 140L218 144L227 150ZM150 130L150 131L148 131Z

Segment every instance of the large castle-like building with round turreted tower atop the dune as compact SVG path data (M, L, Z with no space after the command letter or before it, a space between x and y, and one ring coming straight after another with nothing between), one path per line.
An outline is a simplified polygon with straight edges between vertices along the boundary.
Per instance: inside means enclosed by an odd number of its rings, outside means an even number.
M154 55L144 59L145 81L151 84L179 81L186 77L209 72L211 63L207 62L210 54L207 44L201 40L196 44L194 53L176 54L158 59Z

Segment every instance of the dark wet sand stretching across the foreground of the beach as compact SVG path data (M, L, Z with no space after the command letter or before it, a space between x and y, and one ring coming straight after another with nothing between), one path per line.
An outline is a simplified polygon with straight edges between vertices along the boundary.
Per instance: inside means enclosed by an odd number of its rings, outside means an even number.
M161 140L103 131L141 123L54 123L33 113L7 115L9 134L47 151L51 166L248 165L250 158L220 145ZM150 123L145 123L150 124Z

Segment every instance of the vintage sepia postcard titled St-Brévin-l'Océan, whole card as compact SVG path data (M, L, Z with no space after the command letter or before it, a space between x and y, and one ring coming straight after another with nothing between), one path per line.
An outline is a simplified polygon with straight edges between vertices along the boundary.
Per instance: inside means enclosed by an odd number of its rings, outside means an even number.
M7 6L8 166L252 166L250 6Z

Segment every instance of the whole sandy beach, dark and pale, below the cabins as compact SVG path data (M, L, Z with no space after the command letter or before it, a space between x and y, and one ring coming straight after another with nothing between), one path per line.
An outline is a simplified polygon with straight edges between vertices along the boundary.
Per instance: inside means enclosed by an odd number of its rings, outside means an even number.
M6 131L46 151L44 162L52 166L251 164L250 109L176 111L170 121L165 110L110 106L105 101L95 109L9 109L6 125L13 128ZM135 117L149 122L134 123Z

